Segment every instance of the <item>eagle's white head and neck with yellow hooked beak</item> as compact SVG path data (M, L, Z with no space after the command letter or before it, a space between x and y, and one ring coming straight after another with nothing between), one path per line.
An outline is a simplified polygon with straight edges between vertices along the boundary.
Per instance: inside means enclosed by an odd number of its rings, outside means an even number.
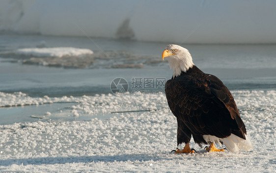
M164 58L167 58L169 67L173 69L172 78L179 76L182 71L186 72L194 65L193 58L189 51L175 44L169 44L166 46L162 58L163 60Z

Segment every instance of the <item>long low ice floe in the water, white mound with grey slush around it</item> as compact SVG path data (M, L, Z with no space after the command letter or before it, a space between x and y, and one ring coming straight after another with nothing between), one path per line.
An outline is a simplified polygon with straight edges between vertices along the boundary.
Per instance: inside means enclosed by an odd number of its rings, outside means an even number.
M159 57L139 56L125 51L101 51L94 54L90 49L74 47L23 48L1 55L18 58L23 64L64 68L142 68L143 64L157 65L162 62Z

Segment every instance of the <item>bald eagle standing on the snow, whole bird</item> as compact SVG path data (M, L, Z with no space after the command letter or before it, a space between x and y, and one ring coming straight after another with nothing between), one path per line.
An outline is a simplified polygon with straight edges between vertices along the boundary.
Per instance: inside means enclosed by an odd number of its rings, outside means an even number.
M177 145L185 143L175 153L193 153L190 140L207 151L224 151L215 144L224 144L232 152L250 150L246 126L234 98L227 87L214 75L198 69L189 51L178 45L167 45L162 54L167 58L173 75L166 82L168 106L177 119Z

